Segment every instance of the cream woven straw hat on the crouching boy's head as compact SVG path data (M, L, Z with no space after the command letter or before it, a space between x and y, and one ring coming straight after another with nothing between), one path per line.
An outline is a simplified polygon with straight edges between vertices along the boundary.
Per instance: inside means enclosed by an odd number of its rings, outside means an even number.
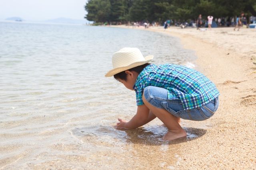
M150 62L153 55L148 55L145 58L137 48L122 48L112 56L113 69L107 72L106 77L114 76L115 74L129 70L136 66L140 66Z

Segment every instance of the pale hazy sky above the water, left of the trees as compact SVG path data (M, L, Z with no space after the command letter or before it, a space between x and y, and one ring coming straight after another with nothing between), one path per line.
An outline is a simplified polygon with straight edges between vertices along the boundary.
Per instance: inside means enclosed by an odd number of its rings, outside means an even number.
M27 21L71 18L83 20L88 0L0 0L0 20L20 17Z

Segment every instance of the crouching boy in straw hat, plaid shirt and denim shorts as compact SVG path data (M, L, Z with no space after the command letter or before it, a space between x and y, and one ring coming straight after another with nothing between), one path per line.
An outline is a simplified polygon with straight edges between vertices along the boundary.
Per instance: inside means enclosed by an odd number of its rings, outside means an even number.
M219 92L206 76L192 68L175 64L148 64L152 55L143 57L137 48L123 48L112 56L114 76L135 90L137 113L128 122L118 118L116 127L135 129L158 117L168 128L163 140L186 137L180 118L203 121L218 108Z

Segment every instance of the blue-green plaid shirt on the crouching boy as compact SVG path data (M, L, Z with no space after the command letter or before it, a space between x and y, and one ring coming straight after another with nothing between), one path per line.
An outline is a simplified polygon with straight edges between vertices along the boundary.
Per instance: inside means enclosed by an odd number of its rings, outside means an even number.
M140 72L133 86L137 106L144 104L142 94L147 86L165 88L168 99L181 100L184 110L200 107L220 95L215 84L202 73L175 64L150 64Z

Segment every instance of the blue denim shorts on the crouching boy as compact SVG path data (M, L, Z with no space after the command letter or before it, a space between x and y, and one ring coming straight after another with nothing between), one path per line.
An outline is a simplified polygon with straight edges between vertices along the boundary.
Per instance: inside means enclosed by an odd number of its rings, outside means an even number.
M157 108L166 109L176 117L193 121L209 119L214 115L219 106L219 98L217 97L201 107L184 110L181 100L169 100L167 90L155 86L144 88L144 97L151 105Z

